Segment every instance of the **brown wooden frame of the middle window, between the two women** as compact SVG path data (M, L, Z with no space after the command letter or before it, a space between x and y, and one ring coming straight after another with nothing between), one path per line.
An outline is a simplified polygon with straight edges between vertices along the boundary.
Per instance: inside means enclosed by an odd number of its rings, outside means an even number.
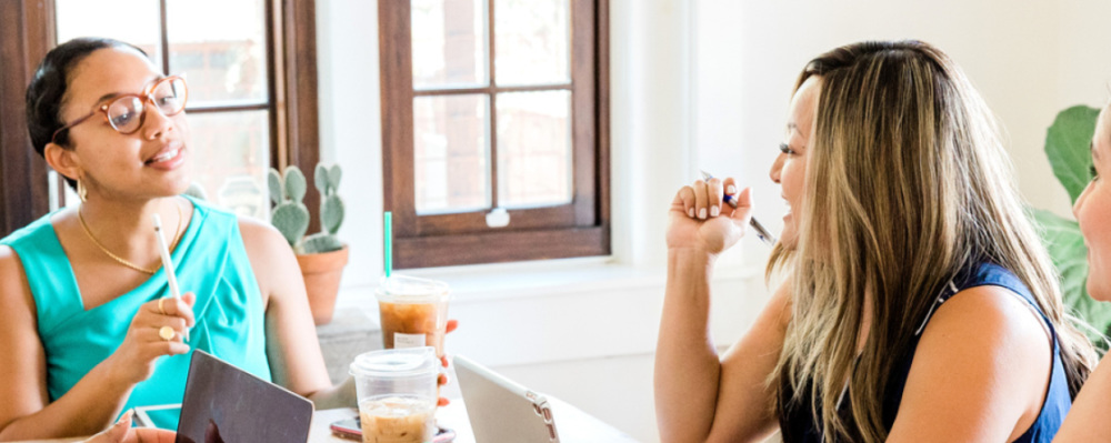
M491 0L492 3L492 0ZM608 255L609 214L609 1L570 0L571 85L498 87L414 91L409 1L379 2L382 168L384 207L393 212L393 264L399 269ZM492 12L491 12L492 14ZM489 20L493 28L493 20ZM492 30L491 34L497 32ZM493 39L493 36L488 36ZM494 77L493 51L490 77ZM416 211L413 98L538 90L572 92L574 180L570 204L509 209L510 225L489 228L489 209L418 215ZM585 100L582 100L585 99ZM491 108L491 127L497 111ZM492 131L496 132L496 131ZM497 152L490 142L491 152ZM496 159L496 154L491 154ZM497 160L491 160L497 201ZM498 207L494 203L494 207Z

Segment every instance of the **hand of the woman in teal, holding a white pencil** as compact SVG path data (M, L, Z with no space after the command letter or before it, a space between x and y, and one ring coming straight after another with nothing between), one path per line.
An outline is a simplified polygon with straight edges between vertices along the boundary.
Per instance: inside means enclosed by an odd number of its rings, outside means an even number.
M163 298L139 306L123 343L106 360L112 365L110 373L127 383L139 383L153 374L158 358L189 352L182 335L196 322L196 301L197 295L189 292L181 300Z

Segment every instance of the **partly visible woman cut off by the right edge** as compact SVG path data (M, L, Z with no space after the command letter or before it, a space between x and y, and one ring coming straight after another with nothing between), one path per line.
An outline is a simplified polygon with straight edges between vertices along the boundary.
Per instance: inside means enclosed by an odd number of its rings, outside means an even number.
M1088 245L1088 294L1111 301L1111 188L1102 177L1111 171L1111 104L1103 108L1092 137L1092 181L1072 208L1080 232ZM1077 395L1068 419L1061 425L1060 442L1100 442L1111 440L1111 362L1104 358Z

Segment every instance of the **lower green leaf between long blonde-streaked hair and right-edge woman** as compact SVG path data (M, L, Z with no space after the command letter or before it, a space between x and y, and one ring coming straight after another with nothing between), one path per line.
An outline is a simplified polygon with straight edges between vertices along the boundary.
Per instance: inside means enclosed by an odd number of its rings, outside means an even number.
M1084 333L1093 343L1104 348L1100 334L1111 331L1111 304L1088 296L1088 246L1084 245L1080 225L1045 210L1034 210L1033 220L1041 225L1042 241L1061 276L1064 305L1095 330L1084 330Z

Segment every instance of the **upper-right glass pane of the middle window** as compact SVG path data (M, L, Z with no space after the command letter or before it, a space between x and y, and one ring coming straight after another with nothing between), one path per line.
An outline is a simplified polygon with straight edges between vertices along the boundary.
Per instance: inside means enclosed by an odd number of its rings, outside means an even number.
M494 0L493 12L496 83L571 81L568 0Z

